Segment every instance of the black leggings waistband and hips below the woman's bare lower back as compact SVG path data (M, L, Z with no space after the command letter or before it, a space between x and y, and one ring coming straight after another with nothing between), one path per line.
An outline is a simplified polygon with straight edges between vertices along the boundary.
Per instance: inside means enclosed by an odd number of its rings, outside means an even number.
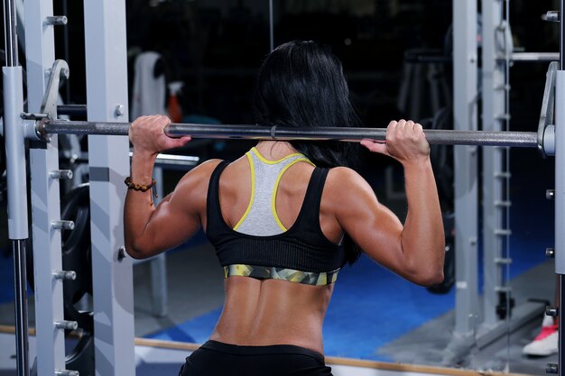
M300 346L238 346L208 341L190 354L179 376L332 375L322 354Z

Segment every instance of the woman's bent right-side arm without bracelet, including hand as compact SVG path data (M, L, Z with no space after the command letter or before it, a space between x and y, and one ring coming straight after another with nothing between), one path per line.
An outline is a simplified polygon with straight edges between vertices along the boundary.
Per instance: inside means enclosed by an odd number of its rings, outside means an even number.
M370 151L403 164L408 215L404 224L380 204L373 189L356 172L338 169L339 190L347 195L337 206L342 228L375 261L422 285L443 280L445 235L438 191L431 170L430 146L420 124L391 122L386 143L365 140Z

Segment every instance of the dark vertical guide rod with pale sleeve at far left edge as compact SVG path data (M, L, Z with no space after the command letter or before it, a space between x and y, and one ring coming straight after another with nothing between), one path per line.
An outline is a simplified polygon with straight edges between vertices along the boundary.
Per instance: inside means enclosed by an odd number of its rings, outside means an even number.
M25 239L28 237L27 188L23 127L22 69L18 63L14 0L5 0L5 105L6 181L8 182L8 233L14 251L15 342L18 376L29 375Z

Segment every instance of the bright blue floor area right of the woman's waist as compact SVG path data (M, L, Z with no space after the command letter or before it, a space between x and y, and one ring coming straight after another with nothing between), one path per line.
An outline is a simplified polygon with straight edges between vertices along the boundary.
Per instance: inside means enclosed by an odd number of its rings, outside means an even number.
M377 349L454 305L454 290L436 295L362 257L341 272L324 322L329 356L391 361Z

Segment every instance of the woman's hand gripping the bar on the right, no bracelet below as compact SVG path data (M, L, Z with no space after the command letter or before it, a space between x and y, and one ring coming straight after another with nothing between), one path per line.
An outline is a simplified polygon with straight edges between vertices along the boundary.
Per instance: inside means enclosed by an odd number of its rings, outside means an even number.
M430 157L430 144L421 124L412 120L390 122L386 128L386 142L364 139L361 144L369 151L388 155L403 164Z

